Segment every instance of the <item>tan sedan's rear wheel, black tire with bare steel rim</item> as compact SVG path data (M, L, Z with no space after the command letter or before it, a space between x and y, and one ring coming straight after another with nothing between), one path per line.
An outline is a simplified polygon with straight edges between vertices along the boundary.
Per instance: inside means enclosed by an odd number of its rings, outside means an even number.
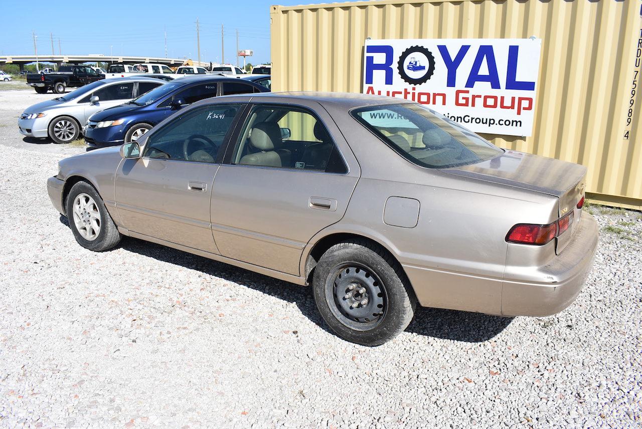
M325 251L315 267L313 295L330 329L363 346L379 346L403 332L417 303L397 261L366 240Z

